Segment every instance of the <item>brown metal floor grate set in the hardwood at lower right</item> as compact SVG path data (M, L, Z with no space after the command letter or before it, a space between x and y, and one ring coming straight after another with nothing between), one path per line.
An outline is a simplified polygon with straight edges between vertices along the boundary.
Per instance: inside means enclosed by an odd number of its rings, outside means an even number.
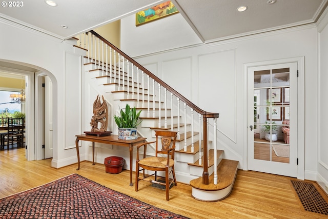
M328 203L313 183L291 180L305 211L328 215Z

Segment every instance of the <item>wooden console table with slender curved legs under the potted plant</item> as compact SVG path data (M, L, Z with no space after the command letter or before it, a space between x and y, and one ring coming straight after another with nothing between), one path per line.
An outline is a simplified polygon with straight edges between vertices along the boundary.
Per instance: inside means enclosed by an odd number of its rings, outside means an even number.
M104 143L104 144L109 144L109 145L118 145L118 146L123 146L123 147L129 147L130 151L130 186L133 186L132 183L132 160L133 160L133 146L136 145L137 143L143 143L145 142L146 138L145 137L138 137L136 140L120 140L118 139L117 135L108 135L108 136L101 136L98 137L97 135L75 135L76 140L75 140L75 145L76 145L76 153L77 153L77 163L78 163L78 168L76 170L80 169L80 154L79 154L79 149L78 149L78 141L88 141L92 142L92 164L94 163L94 143Z

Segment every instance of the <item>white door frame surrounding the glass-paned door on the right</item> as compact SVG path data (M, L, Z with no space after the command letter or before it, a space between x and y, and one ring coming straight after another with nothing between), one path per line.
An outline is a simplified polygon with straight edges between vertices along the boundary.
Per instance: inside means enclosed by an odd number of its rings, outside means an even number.
M277 59L273 61L263 61L256 63L246 63L243 65L243 170L248 170L248 70L251 67L257 66L266 66L266 65L276 65L276 64L285 64L285 63L297 63L298 68L298 80L297 80L297 157L298 157L298 166L297 166L297 178L304 180L304 170L305 170L305 86L304 86L304 56L294 57L294 58L285 58ZM254 112L253 112L254 113Z

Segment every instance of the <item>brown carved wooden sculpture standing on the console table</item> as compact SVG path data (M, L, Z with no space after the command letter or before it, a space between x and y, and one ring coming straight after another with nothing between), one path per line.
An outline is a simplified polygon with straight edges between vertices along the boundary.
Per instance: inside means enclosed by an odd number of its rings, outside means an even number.
M93 116L91 118L91 132L106 132L108 125L108 108L107 103L103 95L103 103L100 101L99 95L93 103ZM98 123L101 123L101 127L98 129Z

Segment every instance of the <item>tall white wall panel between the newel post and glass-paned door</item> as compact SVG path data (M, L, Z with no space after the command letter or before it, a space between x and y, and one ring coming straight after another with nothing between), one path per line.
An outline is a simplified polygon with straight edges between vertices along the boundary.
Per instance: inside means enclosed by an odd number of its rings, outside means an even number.
M236 142L236 50L198 56L199 106L218 112L218 130Z

